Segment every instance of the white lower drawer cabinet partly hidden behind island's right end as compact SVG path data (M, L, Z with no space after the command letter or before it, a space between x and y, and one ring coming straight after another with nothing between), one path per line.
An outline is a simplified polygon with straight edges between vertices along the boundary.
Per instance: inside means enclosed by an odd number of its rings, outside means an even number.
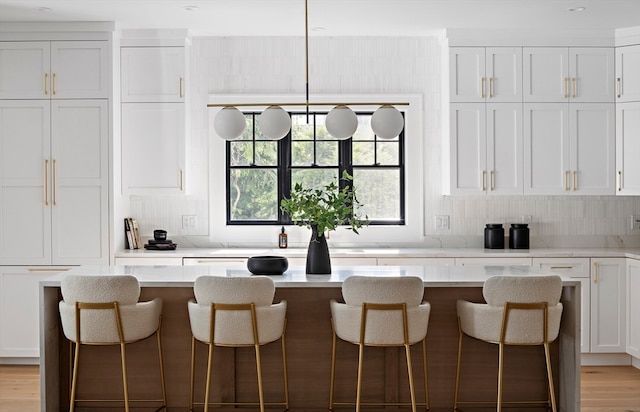
M580 281L580 352L591 351L591 278L589 258L533 258L536 269L546 269Z

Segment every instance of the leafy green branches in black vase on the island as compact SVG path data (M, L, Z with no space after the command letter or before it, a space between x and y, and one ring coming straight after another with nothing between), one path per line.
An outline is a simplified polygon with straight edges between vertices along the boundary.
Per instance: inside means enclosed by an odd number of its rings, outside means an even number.
M342 180L353 181L353 176L346 171ZM358 229L368 223L368 217L362 219L357 214L361 203L356 197L355 189L346 184L342 189L336 182L331 182L320 189L311 189L296 183L289 194L280 202L280 210L291 217L293 223L311 229L311 240L307 251L308 274L330 274L331 259L325 232L336 230L340 225L346 226L358 234Z

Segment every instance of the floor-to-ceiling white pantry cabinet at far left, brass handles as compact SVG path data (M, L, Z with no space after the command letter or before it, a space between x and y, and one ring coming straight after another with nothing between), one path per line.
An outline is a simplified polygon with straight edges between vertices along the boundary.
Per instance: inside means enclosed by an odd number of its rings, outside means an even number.
M111 35L26 36L0 41L0 362L39 356L40 280L109 264Z

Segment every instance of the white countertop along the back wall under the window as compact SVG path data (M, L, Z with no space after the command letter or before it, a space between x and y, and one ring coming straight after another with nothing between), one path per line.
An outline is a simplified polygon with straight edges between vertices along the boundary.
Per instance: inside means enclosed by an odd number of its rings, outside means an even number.
M540 249L481 249L481 248L337 248L330 247L332 257L629 257L640 259L638 248L540 248ZM234 258L278 255L305 257L306 248L181 248L176 250L122 250L115 257L183 257Z

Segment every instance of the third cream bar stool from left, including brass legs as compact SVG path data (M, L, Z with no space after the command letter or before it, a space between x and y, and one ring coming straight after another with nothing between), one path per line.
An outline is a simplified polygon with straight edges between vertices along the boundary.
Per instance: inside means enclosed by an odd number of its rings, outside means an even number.
M427 385L427 327L431 305L422 302L424 284L415 276L350 276L342 283L344 303L332 299L331 325L333 348L331 353L331 386L329 410L337 405L354 405L353 402L335 402L336 338L358 345L358 378L356 386L356 412L360 411L362 398L362 369L364 347L403 347L407 360L411 403L366 403L366 406L411 405L416 412L416 396L413 382L410 346L422 342L422 367L424 373L425 409L429 409Z

